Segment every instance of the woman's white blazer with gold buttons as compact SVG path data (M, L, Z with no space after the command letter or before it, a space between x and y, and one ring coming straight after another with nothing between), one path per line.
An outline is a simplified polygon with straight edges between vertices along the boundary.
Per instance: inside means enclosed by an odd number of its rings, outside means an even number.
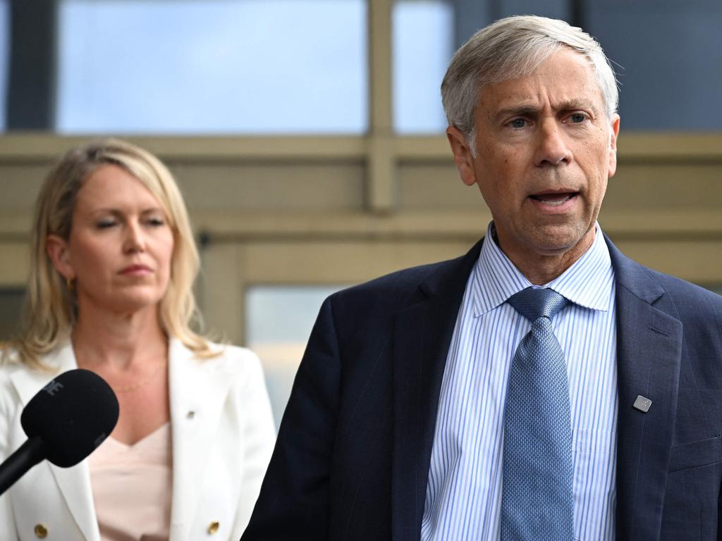
M221 356L203 361L170 340L170 541L238 541L273 450L273 418L258 358L244 348L219 347ZM27 439L20 426L27 402L54 376L77 368L70 343L45 363L58 371L0 366L0 459ZM217 530L209 535L215 522ZM43 460L0 496L0 541L38 537L100 541L87 460L70 468Z

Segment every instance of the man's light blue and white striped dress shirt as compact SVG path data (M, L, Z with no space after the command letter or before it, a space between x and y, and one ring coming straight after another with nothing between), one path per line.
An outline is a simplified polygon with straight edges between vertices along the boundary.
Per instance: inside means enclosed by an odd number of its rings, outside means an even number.
M422 540L500 538L504 406L511 361L531 322L506 300L531 286L492 240L466 283L441 384ZM613 540L617 467L614 271L591 247L547 283L571 302L554 317L567 361L577 540Z

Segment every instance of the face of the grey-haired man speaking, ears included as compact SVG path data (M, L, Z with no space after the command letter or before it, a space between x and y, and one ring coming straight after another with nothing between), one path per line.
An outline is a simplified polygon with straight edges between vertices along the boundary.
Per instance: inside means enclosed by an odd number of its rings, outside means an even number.
M462 180L479 186L492 212L502 250L515 262L573 262L593 241L617 167L619 117L607 118L591 65L563 48L528 77L484 87L474 122L477 157L456 128L448 137Z

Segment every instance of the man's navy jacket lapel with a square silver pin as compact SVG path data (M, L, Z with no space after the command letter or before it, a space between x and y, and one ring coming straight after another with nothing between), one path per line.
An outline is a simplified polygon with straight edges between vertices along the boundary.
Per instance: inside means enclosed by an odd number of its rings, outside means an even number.
M682 322L658 309L674 313L648 271L606 241L617 282L617 538L657 539L677 411ZM652 401L647 413L633 407L638 395Z

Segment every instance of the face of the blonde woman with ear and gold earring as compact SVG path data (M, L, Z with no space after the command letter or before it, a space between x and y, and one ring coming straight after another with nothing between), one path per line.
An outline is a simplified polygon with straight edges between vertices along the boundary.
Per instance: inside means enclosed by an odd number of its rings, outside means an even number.
M48 254L75 281L78 306L132 313L165 295L173 232L162 206L136 177L105 165L77 194L70 238L48 237Z

